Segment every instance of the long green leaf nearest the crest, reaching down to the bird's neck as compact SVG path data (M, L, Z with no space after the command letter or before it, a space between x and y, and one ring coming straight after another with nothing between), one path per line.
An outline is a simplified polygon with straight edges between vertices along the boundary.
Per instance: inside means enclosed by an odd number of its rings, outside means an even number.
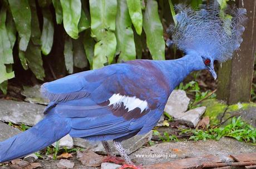
M163 37L163 25L159 19L157 2L148 0L143 17L143 29L146 33L146 43L152 55L152 59L165 59L165 41Z

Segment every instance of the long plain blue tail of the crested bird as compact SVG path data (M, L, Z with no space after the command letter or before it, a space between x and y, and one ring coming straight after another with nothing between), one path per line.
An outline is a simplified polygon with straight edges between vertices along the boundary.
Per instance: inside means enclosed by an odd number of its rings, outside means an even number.
M42 150L60 140L70 130L68 118L49 114L31 129L0 142L0 163Z

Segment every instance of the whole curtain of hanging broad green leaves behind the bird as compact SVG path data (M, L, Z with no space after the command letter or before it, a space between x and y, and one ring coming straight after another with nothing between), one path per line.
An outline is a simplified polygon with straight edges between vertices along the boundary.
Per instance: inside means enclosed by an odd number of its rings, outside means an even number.
M226 1L219 3L225 6ZM199 6L202 1L188 2ZM165 59L164 28L169 23L165 23L162 14L166 9L159 7L161 3L165 3L175 22L171 0L1 1L0 89L6 93L7 80L14 77L16 54L23 69L30 69L43 80L43 57L51 56L59 45L60 40L54 37L60 30L64 48L58 53L64 55L68 73L73 73L74 66L83 69L90 64L91 69L97 69L141 59L142 52L147 51L151 53L149 59Z

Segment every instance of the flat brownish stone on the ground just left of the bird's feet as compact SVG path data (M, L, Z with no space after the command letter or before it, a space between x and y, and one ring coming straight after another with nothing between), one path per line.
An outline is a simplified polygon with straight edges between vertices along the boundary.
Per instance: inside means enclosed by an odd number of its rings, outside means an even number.
M93 151L77 152L77 158L82 162L83 165L88 167L98 167L101 165L103 156L97 155Z

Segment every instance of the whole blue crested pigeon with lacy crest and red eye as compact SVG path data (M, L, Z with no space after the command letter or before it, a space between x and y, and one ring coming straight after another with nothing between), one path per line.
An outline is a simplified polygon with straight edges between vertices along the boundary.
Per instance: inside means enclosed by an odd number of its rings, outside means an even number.
M132 60L72 74L41 87L50 100L45 119L31 129L0 142L0 162L42 150L69 134L102 141L106 161L121 161L110 151L107 140L125 160L121 168L140 168L131 162L121 141L146 134L163 114L171 92L191 71L207 69L216 79L214 60L224 62L242 43L245 9L220 17L215 4L199 11L176 6L178 23L168 32L185 56L175 60ZM222 15L223 16L223 15Z

